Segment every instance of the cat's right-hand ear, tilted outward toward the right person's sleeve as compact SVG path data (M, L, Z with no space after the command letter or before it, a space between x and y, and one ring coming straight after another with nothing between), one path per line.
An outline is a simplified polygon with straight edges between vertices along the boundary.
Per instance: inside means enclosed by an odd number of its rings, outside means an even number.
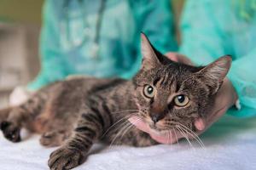
M211 88L212 94L215 94L220 88L224 77L230 70L231 61L230 55L225 55L196 73L200 75L202 82Z

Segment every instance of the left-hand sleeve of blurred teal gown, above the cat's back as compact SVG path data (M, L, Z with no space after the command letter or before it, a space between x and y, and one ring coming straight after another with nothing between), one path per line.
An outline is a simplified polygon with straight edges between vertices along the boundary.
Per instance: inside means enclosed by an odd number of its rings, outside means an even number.
M59 20L55 14L54 1L47 0L43 9L43 27L39 41L41 70L38 76L29 83L29 90L37 90L50 82L67 76L63 59L61 59Z

